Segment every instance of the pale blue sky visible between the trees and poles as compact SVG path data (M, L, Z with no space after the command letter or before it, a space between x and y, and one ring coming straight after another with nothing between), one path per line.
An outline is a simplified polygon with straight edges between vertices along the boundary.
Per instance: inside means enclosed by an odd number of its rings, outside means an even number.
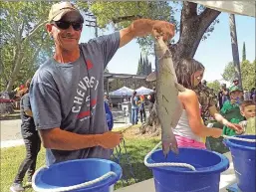
M179 21L179 14L175 18ZM212 82L222 80L221 74L225 65L232 62L231 38L229 29L229 15L221 13L218 16L219 23L215 25L214 31L209 38L201 41L194 59L201 62L205 67L204 80ZM240 61L242 60L243 42L246 46L246 58L250 62L255 60L255 18L247 16L235 16L238 49ZM100 32L100 35L109 34L113 31ZM177 40L178 35L174 37ZM88 42L95 37L93 28L84 27L81 42ZM139 45L132 40L128 45L118 50L108 65L110 73L136 74L137 63L140 57ZM154 69L154 57L149 56L149 61Z

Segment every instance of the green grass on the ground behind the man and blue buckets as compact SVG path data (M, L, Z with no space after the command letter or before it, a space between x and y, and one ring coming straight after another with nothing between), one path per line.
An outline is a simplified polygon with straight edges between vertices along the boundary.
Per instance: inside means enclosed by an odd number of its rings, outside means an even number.
M127 139L126 146L129 154L129 162L133 169L135 178L137 181L143 181L152 177L150 170L144 166L144 156L157 144L158 140L153 138L139 138L139 139ZM20 163L25 157L25 147L17 146L11 148L1 149L1 190L8 192L9 187L13 182L13 179L17 173ZM122 153L125 152L125 148L122 147ZM128 174L128 166L125 166L125 159L121 160L124 174L128 176L128 183L125 186L134 183L131 175ZM45 164L45 149L42 148L37 160L37 168ZM26 178L24 179L26 183ZM116 185L116 189L123 187L121 181ZM32 188L26 188L26 192L32 192Z

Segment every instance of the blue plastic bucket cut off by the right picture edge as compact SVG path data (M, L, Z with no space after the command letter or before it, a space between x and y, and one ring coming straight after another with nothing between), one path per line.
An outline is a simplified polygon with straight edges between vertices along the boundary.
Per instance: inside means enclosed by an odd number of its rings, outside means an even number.
M255 139L256 135L236 137ZM256 143L234 139L224 139L224 143L229 147L232 154L238 188L243 192L255 192Z

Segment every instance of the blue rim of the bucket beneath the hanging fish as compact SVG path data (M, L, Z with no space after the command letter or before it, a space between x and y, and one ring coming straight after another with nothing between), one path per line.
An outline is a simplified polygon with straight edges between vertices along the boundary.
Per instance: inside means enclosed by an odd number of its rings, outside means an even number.
M216 165L212 165L212 166L208 166L208 167L205 167L205 170L202 170L200 168L200 170L182 170L182 171L179 171L179 170L176 170L176 169L172 169L172 170L166 170L165 167L152 167L151 169L155 169L155 170L160 170L160 171L164 171L164 172L173 172L173 173L178 173L178 174L209 174L209 173L220 173L220 172L223 172L225 170L228 169L229 167L229 160L228 158L223 155L223 154L220 154L218 152L215 152L215 151L209 151L207 149L199 149L199 148L192 148L192 147L179 147L179 149L192 149L192 150L203 150L203 151L207 151L207 152L210 152L210 153L213 153L215 155L217 155L219 158L220 158L220 162ZM159 152L161 151L161 149L157 149L155 150L152 154L156 153L156 152ZM147 162L148 163L158 163L158 162L155 162L152 160L151 158L151 155L148 157L147 159Z

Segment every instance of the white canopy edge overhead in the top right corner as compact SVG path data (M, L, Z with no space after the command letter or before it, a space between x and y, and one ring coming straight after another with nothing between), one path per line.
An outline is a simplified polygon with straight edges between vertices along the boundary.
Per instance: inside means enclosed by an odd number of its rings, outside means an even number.
M255 17L255 1L190 1L231 14Z

